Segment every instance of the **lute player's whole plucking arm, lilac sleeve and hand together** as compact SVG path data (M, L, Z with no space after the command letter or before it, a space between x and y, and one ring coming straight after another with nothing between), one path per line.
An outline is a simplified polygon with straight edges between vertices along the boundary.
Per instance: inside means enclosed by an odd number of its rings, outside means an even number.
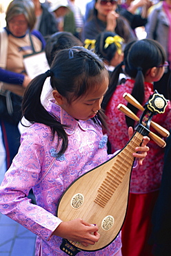
M30 199L26 197L31 188L39 186L52 165L47 155L48 147L43 147L47 142L43 139L44 133L48 134L47 127L37 125L36 129L31 127L22 134L19 152L0 186L0 211L43 240L48 241L56 235L79 241L83 246L94 244L100 235L97 232L98 227L93 223L87 223L82 219L63 222L43 207L30 203ZM46 180L44 182L46 184ZM54 186L57 186L57 183ZM41 194L41 191L39 193ZM57 199L54 204L56 201ZM41 203L43 202L46 204L46 200L41 199Z

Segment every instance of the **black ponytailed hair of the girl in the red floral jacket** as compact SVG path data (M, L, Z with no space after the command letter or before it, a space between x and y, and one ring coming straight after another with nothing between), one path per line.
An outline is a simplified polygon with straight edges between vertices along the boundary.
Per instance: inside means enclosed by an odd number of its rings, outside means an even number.
M113 71L110 80L109 95L106 95L106 98L104 99L105 106L108 104L112 94L117 88L118 77L119 73L121 73L121 66L123 64L125 65L125 73L135 80L131 94L140 104L143 104L145 97L144 76L150 68L164 64L165 59L166 57L163 47L153 39L141 39L130 42L130 44L125 47L124 63L119 64L118 68L115 68ZM114 87L112 84L114 84ZM130 103L128 103L128 108L135 114L138 111L138 109L133 107ZM126 122L128 127L134 127L134 121L131 118L126 117Z

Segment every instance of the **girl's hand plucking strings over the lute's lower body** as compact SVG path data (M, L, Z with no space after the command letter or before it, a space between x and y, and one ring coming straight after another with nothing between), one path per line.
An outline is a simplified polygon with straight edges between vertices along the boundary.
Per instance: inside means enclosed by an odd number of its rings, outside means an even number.
M83 246L94 245L99 241L100 235L97 232L98 227L90 224L83 219L74 219L72 221L63 221L54 230L53 235L77 241Z

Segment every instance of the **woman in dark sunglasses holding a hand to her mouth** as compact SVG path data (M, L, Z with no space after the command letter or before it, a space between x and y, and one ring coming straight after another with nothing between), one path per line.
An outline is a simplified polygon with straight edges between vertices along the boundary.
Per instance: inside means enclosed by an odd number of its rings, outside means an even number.
M127 19L117 12L116 0L96 0L92 18L83 26L82 41L85 39L96 39L104 30L117 33L123 37L125 43L136 35L132 31Z

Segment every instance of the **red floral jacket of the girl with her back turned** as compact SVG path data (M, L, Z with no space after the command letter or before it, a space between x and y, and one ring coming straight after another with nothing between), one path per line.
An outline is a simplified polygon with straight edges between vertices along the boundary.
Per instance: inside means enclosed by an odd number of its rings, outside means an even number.
M123 93L131 93L134 86L134 80L126 80L125 84L117 86L117 90L112 95L105 114L108 116L108 139L111 143L112 152L122 149L128 142L128 127L125 122L125 115L117 109L119 103L127 105L128 102L123 98ZM145 102L152 95L153 85L145 82ZM157 122L165 129L170 130L171 112L170 102L165 109L165 113L153 116L152 120ZM137 116L141 116L141 111L138 111ZM157 134L157 131L150 127L150 130ZM159 134L157 134L159 135ZM160 135L159 135L160 136ZM145 157L143 165L139 165L132 170L130 181L130 192L146 193L159 190L161 183L161 174L163 170L163 155L164 149L159 147L154 141L148 143L150 152Z

